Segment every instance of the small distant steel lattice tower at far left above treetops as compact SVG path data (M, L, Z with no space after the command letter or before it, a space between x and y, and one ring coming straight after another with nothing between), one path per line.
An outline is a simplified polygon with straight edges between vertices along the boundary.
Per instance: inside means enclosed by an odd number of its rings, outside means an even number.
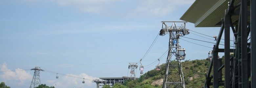
M44 71L43 69L41 69L40 67L35 67L35 68L32 68L30 70L35 70L34 72L34 76L33 76L33 79L31 81L31 84L30 84L30 88L35 88L37 87L38 85L40 85L40 71Z

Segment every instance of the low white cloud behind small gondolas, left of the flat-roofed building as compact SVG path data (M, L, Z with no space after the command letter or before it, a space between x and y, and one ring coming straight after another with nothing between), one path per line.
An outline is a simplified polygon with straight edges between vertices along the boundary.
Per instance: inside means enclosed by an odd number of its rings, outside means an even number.
M48 85L56 86L58 88L88 87L88 86L96 86L96 84L93 83L92 80L98 79L96 77L88 76L85 73L81 73L80 75L74 75L74 74L67 74L67 75L79 77L79 78L59 75L59 79L47 80L47 83L49 83ZM85 83L82 83L83 79L80 79L80 78L85 78L84 80Z

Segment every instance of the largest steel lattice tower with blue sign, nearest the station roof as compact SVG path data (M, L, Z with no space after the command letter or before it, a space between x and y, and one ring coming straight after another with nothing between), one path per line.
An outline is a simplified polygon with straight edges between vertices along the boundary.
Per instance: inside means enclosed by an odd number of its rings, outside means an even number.
M172 23L172 25L168 26L166 23ZM176 23L181 23L181 26L177 26ZM160 36L164 36L165 33L169 34L169 51L162 88L185 88L181 66L181 60L185 58L185 49L181 49L179 37L189 34L188 29L186 29L186 22L162 21ZM180 50L183 51L182 55L180 55ZM172 58L175 59L172 61ZM169 70L177 72L171 72Z

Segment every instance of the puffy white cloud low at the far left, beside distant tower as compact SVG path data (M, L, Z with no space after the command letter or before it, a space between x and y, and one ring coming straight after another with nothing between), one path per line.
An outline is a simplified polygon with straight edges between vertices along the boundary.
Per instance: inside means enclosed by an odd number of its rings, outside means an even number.
M18 84L24 85L25 81L31 81L32 80L32 75L29 72L26 72L23 69L17 68L15 71L12 71L7 68L7 64L4 63L1 66L1 71L3 74L0 75L0 78L3 79L4 81L18 81Z

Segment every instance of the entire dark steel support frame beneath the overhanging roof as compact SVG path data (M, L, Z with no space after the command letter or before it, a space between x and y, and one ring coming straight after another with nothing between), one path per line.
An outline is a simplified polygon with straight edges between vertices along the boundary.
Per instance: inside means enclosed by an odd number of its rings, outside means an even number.
M238 4L234 6L235 1ZM249 10L248 7L250 7ZM206 75L204 88L210 88L212 85L213 88L220 86L225 88L256 88L256 76L254 75L256 74L256 54L251 54L256 52L255 9L256 0L230 0L229 7L225 10L224 19L222 19L218 39L213 47L213 60ZM239 15L239 19L231 19L234 15ZM235 49L230 49L230 28L232 28L235 37ZM223 33L224 64L222 65L221 59L217 58L217 53L223 51L223 49L219 49ZM234 55L230 55L230 52L234 52ZM212 68L213 75L211 76ZM223 69L224 75L221 73ZM223 77L225 78L224 81L222 80Z

